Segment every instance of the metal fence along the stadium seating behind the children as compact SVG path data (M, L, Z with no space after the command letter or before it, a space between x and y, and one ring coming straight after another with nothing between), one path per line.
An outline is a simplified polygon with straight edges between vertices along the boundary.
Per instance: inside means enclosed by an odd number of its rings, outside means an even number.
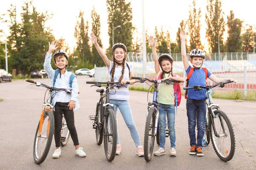
M150 56L148 55L148 57ZM139 59L139 57L137 57L137 59ZM130 60L129 63L134 66L134 76L143 77L143 62ZM250 60L204 61L203 66L207 67L207 69L216 77L231 77L238 81L236 86L234 83L230 83L224 88L219 88L218 91L215 92L214 97L224 99L256 100L256 60L252 60L252 62L250 62ZM149 79L156 79L154 62L147 62L145 73L145 77L148 77ZM173 73L186 79L186 72L181 61L174 62ZM95 67L95 79L96 81L108 80L109 74L107 68ZM214 82L207 79L207 85L213 84ZM180 85L183 87L185 84L181 83ZM140 83L133 86L148 88L145 84L140 85Z

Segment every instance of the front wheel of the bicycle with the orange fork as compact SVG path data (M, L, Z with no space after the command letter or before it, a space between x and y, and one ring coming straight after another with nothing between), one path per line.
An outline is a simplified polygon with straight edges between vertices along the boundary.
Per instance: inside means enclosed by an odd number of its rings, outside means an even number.
M34 149L33 149L33 156L36 164L41 164L44 162L52 144L52 137L54 133L54 116L52 111L49 111L49 110L45 111L45 116L44 116L42 131L40 136L38 136L39 123L35 133ZM49 132L48 137L47 137L47 130Z

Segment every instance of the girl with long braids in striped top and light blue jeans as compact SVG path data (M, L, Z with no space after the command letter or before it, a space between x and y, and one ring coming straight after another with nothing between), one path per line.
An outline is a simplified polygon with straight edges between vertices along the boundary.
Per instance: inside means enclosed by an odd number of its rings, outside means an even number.
M105 65L107 66L108 73L110 75L109 79L111 82L121 82L122 85L125 85L126 82L130 82L130 85L133 85L135 80L131 79L133 76L133 66L130 64L127 64L125 62L126 60L126 52L127 49L124 44L122 43L116 43L112 47L112 57L113 62L108 59L102 48L100 48L97 38L94 35L94 33L90 34L90 40L92 41L93 45L95 45L99 55L102 57ZM119 108L119 111L121 112L125 124L130 130L131 137L134 140L134 143L137 147L137 155L138 156L144 156L143 146L140 145L140 137L138 130L134 124L134 120L131 113L131 108L129 105L129 89L128 85L126 87L120 87L116 88L110 92L109 99L110 103L114 106L114 112L116 115L117 108ZM117 115L116 115L117 118ZM117 120L116 120L117 122ZM116 154L119 155L121 153L121 145L119 142L119 136L117 132L117 145L116 145Z

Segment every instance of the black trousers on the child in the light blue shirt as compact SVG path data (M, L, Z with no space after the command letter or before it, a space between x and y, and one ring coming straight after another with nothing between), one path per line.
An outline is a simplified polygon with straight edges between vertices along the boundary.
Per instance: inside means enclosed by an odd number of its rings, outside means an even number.
M55 146L60 147L61 146L61 127L62 127L62 114L64 114L64 117L67 122L67 128L70 130L70 136L73 140L74 146L79 145L78 142L78 136L76 132L75 127L75 119L74 119L74 111L69 110L69 107L67 106L67 103L62 102L56 102L55 104L55 112L54 112L54 139L55 139Z

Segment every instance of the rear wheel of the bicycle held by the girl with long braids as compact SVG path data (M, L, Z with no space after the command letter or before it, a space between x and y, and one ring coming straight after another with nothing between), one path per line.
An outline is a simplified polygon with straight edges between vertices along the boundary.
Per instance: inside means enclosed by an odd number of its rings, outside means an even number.
M95 134L96 134L96 142L98 145L102 144L103 141L103 128L102 128L102 113L101 113L101 105L99 102L96 105L96 113L95 113Z

